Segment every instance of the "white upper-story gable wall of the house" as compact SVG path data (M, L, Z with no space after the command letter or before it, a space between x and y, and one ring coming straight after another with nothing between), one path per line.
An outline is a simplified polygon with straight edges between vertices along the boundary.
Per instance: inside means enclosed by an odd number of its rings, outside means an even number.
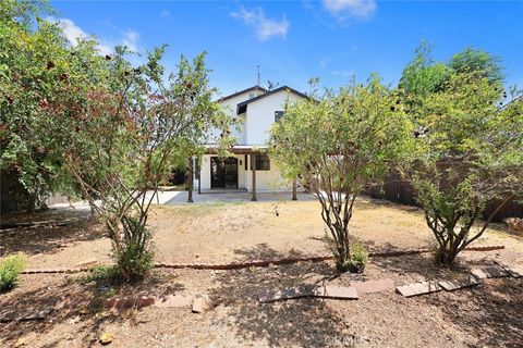
M281 90L247 105L245 129L247 145L266 144L270 126L275 122L275 111L283 111L288 96L290 102L303 99L292 92L288 95L285 90Z

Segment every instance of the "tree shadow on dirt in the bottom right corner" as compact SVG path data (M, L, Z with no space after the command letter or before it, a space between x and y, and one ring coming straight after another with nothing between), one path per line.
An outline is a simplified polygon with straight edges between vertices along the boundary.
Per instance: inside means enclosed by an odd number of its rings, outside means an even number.
M413 282L421 278L465 278L471 269L495 265L490 260L467 260L461 256L455 266L446 269L437 266L430 254L374 258L373 263L385 272L404 274ZM523 346L522 288L523 278L492 278L472 288L440 291L408 300L435 307L441 311L445 322L455 325L471 337L477 337L481 347L515 348ZM469 346L478 345L469 343Z

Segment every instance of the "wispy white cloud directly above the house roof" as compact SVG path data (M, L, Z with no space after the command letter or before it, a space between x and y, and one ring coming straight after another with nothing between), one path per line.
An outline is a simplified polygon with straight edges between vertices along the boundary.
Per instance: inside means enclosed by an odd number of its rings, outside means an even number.
M231 16L242 20L245 25L256 29L256 37L260 41L266 41L271 37L285 37L289 30L289 21L285 15L278 21L268 18L260 8L247 11L243 7L238 12L232 12Z

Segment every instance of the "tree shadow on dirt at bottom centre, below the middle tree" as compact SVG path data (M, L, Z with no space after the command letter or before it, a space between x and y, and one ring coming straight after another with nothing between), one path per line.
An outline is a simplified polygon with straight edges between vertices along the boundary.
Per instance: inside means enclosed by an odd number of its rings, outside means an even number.
M266 245L236 250L242 259L283 258ZM292 251L292 256L303 256ZM281 266L235 270L217 274L218 286L211 290L214 304L228 309L231 321L224 324L242 339L271 347L332 347L352 339L343 316L325 300L302 298L271 303L258 303L260 290L320 283L333 277L327 262L303 262Z

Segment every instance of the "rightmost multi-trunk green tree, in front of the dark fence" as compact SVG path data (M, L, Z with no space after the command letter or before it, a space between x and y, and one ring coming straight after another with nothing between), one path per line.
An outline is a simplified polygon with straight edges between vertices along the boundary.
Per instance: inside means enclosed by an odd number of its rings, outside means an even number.
M417 120L412 183L445 265L479 238L474 227L487 202L523 191L523 103L501 110L499 87L476 73L453 74L445 91L428 95Z

